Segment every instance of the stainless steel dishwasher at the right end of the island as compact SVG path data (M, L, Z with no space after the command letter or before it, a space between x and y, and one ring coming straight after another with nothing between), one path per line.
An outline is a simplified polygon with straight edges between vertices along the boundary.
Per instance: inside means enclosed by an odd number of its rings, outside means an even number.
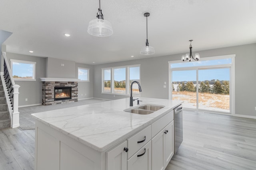
M176 154L180 144L183 141L183 118L182 118L182 104L177 106L174 110L174 154Z

